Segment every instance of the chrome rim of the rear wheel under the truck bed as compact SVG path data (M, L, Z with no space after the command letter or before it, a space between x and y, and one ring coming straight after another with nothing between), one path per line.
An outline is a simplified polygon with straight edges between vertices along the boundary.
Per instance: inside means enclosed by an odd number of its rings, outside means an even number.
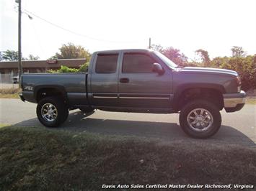
M45 103L41 108L41 115L45 121L52 122L58 116L58 111L53 103Z

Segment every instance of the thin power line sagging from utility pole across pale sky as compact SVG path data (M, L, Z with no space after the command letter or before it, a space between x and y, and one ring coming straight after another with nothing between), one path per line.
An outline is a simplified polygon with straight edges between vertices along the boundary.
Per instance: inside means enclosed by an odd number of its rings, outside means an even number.
M134 43L134 42L112 41L112 40L107 40L107 39L98 39L98 38L94 38L94 37L89 37L89 36L87 36L87 35L85 35L85 34L80 34L80 33L78 33L78 32L72 31L71 29L66 29L66 28L64 28L64 27L61 27L61 26L58 25L58 24L54 24L53 22L49 22L48 20L43 19L42 17L39 17L39 16L37 16L36 14L33 14L33 13L30 12L30 11L27 11L26 9L23 9L23 11L25 11L26 14L32 14L32 16L37 17L37 19L41 19L41 20L43 20L44 22L47 22L48 24L53 25L54 27L57 27L57 28L59 28L59 29L63 29L63 30L65 30L66 32L70 32L70 33L72 33L72 34L76 34L76 35L78 35L78 36L80 36L80 37L85 37L85 38L87 38L87 39L93 39L93 40L100 41L100 42ZM136 41L136 42L139 42L139 41Z

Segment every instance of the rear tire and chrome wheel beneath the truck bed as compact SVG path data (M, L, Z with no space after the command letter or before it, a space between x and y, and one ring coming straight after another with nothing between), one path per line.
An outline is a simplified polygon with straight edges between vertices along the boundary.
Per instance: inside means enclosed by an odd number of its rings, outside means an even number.
M59 126L68 116L69 108L60 98L46 97L37 104L37 118L44 126Z

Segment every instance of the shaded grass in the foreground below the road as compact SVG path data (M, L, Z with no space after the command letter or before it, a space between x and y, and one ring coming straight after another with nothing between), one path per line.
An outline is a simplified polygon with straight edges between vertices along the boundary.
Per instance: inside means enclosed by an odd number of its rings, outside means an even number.
M100 190L102 184L256 185L255 180L256 150L246 147L0 128L0 190Z

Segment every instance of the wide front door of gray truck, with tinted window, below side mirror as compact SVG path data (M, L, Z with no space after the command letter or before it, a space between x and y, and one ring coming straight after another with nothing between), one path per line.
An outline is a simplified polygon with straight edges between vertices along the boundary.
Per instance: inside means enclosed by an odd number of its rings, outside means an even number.
M152 72L153 64L164 65L148 52L123 52L119 74L120 106L171 108L172 73Z

